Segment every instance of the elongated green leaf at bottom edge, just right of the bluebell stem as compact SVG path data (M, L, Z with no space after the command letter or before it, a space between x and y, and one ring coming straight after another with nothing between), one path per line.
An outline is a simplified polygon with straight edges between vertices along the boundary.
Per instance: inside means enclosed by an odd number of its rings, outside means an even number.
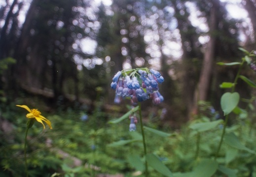
M162 161L159 160L156 155L152 153L146 154L146 161L148 165L155 169L157 172L165 175L166 177L173 177L172 172L163 164Z

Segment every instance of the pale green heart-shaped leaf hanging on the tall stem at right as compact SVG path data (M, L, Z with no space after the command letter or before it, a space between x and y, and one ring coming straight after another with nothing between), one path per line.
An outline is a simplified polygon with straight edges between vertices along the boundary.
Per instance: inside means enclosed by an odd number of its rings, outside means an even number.
M235 109L239 102L239 98L240 96L238 92L226 92L221 96L220 105L222 111L224 112L224 116L228 115L233 111L233 109Z

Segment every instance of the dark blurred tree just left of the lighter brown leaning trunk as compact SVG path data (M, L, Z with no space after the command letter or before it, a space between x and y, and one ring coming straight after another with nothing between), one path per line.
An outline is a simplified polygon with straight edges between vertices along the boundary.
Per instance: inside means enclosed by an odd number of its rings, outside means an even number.
M185 14L180 15L181 3L178 1L173 1L176 18L178 20L178 29L180 30L181 38L182 38L182 66L181 71L182 74L182 99L186 109L186 119L191 119L191 114L193 112L194 107L194 92L196 88L196 80L197 80L197 70L193 65L193 58L201 58L200 52L198 51L198 47L196 47L195 43L198 40L198 36L195 32L195 27L192 26L191 21L188 20L189 13L187 12L186 6L183 3L183 11ZM189 31L189 32L188 32ZM188 44L188 45L186 45Z

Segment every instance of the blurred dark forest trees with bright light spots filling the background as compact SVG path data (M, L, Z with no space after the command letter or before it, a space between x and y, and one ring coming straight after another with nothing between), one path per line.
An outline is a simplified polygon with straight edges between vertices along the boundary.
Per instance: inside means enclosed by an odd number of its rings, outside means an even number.
M60 99L96 99L112 104L111 78L123 68L153 67L165 78L161 89L167 119L186 120L197 101L219 108L223 78L234 77L216 62L254 49L253 0L236 5L249 17L234 19L232 2L220 0L6 0L0 7L2 105L21 93L58 106ZM251 19L251 21L250 21ZM241 40L243 39L243 40ZM11 64L12 63L12 64ZM245 71L246 72L246 71ZM200 90L200 91L199 91ZM113 92L113 91L112 91ZM244 89L245 95L248 89Z

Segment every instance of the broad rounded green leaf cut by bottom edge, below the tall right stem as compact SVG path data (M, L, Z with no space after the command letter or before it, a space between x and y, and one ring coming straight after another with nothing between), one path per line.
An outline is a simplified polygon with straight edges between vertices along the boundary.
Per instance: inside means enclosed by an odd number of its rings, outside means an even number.
M218 163L212 159L202 160L193 170L194 177L212 177L217 171Z

